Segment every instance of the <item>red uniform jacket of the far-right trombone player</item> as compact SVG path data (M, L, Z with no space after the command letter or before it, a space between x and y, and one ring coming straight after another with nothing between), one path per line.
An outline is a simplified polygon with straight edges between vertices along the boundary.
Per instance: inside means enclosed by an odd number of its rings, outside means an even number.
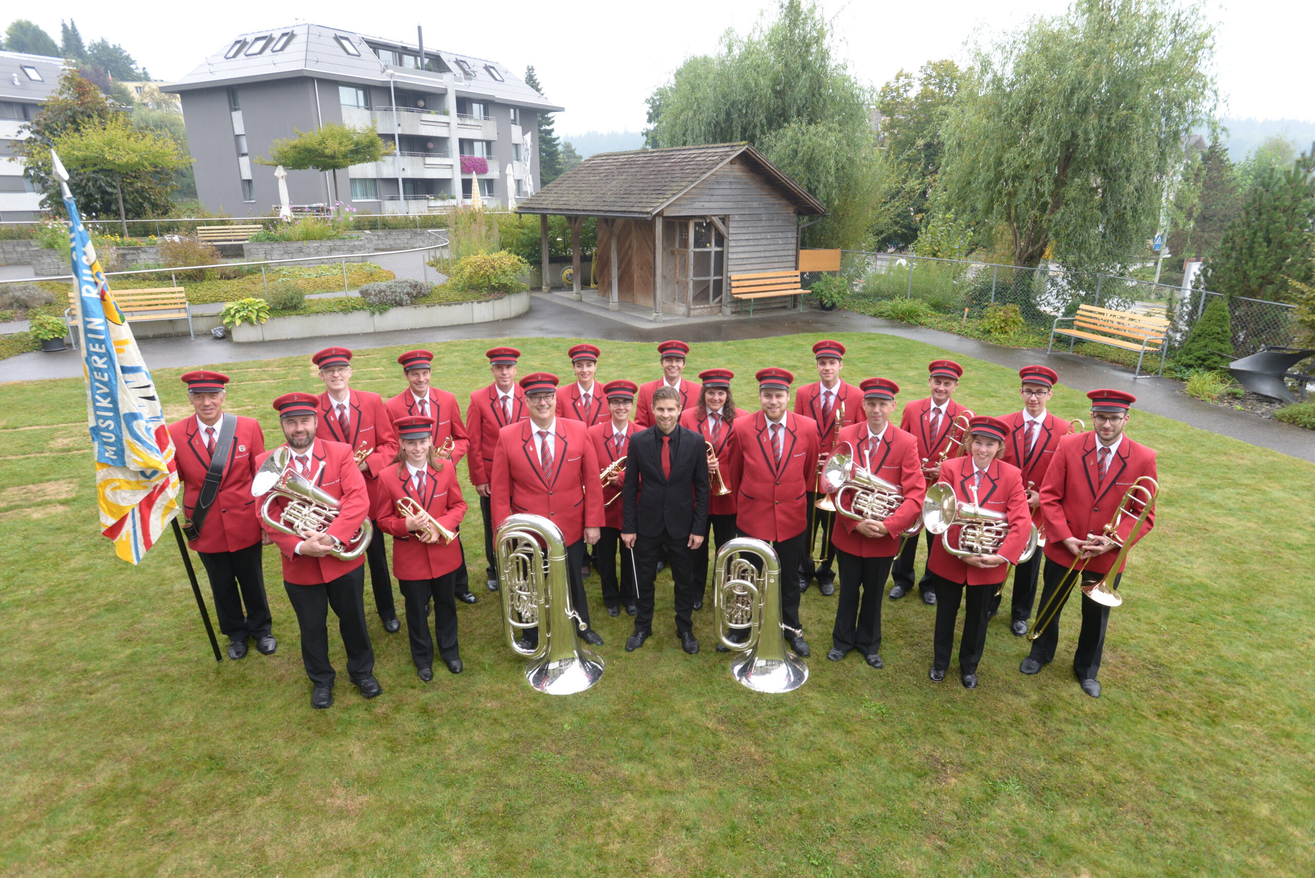
M1073 566L1076 559L1064 547L1070 536L1077 539L1088 534L1103 534L1105 526L1112 520L1114 511L1132 482L1141 476L1156 476L1155 452L1143 444L1132 442L1126 435L1119 443L1119 451L1110 459L1110 465L1101 482L1097 496L1097 474L1099 455L1095 450L1094 432L1078 432L1060 439L1059 451L1051 459L1051 468L1041 482L1041 517L1045 519L1045 557ZM1134 507L1134 511L1140 509ZM1137 539L1155 527L1155 511L1141 526ZM1132 532L1132 518L1124 517L1119 526L1119 538L1127 539ZM1086 569L1093 573L1107 573L1114 565L1118 549L1110 549L1093 557ZM1123 570L1115 570L1122 573Z

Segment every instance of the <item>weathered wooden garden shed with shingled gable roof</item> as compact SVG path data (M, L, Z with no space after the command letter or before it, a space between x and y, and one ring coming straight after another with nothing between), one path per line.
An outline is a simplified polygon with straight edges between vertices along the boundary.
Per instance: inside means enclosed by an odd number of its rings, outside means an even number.
M592 155L515 209L540 216L544 277L547 218L568 217L577 292L579 227L596 217L598 293L655 321L730 314L731 275L797 272L798 217L826 213L748 143Z

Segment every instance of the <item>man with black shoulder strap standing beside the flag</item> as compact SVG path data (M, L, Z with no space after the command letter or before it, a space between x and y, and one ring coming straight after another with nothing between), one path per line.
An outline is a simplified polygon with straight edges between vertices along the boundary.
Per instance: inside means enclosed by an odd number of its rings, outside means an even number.
M187 401L196 414L175 421L168 432L185 490L188 547L205 566L220 631L229 637L229 658L237 661L246 657L252 637L256 652L266 656L279 644L270 634L260 519L251 514L251 478L256 457L264 453L264 436L255 418L224 413L227 382L229 376L220 372L184 375Z

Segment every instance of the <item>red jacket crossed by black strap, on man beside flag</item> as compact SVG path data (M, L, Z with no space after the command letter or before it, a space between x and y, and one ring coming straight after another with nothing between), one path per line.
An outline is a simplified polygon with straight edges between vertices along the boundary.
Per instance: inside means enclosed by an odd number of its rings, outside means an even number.
M214 425L214 439L220 438L220 425ZM210 453L205 450L205 434L196 415L188 415L168 426L174 439L178 472L183 478L183 515L192 518L196 501L201 497L205 473L210 469ZM233 431L233 447L224 467L220 490L214 494L210 511L201 524L201 536L188 545L197 552L237 552L260 540L260 518L256 514L255 497L251 496L251 478L255 476L255 459L264 453L264 434L255 418L238 417Z

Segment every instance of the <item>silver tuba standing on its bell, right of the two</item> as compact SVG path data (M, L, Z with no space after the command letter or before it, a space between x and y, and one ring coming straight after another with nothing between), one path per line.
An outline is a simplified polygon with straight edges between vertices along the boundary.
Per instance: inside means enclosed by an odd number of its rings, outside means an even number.
M740 653L731 660L731 677L740 685L760 693L788 693L809 678L809 666L785 648L781 561L763 540L738 536L717 551L713 618L717 639ZM731 640L732 631L746 631L748 637Z

